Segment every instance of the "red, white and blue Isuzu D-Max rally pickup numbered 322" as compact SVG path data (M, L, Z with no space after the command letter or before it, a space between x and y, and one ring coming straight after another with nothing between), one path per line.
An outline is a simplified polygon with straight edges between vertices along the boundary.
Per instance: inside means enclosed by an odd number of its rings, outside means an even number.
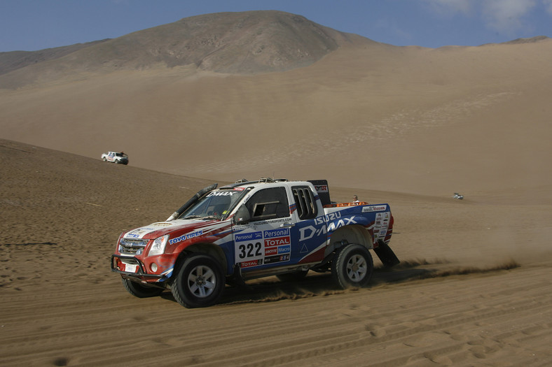
M388 243L388 204L333 203L326 180L240 180L195 194L164 222L121 233L111 257L130 294L170 289L186 308L216 303L226 283L331 271L341 288L362 287L373 260L399 263Z

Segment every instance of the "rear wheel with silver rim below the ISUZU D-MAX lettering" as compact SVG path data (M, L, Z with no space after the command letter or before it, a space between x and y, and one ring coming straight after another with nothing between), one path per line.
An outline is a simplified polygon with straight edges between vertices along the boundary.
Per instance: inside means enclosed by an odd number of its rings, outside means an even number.
M331 265L333 279L343 288L364 287L372 278L372 255L361 245L350 244L337 254Z

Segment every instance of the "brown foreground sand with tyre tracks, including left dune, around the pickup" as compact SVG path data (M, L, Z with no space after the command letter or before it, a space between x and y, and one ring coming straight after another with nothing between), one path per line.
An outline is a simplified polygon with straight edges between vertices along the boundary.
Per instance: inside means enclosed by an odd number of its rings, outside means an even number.
M134 298L109 257L211 181L6 140L0 156L1 366L552 364L551 185L463 201L331 186L391 204L400 266L351 291L265 278L190 310Z

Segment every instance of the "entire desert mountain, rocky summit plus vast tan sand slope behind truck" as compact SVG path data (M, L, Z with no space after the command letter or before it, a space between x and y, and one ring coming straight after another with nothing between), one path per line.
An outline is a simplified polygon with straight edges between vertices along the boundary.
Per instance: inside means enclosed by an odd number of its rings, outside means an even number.
M541 192L551 59L543 37L429 49L280 12L191 17L0 75L0 138L212 180Z

